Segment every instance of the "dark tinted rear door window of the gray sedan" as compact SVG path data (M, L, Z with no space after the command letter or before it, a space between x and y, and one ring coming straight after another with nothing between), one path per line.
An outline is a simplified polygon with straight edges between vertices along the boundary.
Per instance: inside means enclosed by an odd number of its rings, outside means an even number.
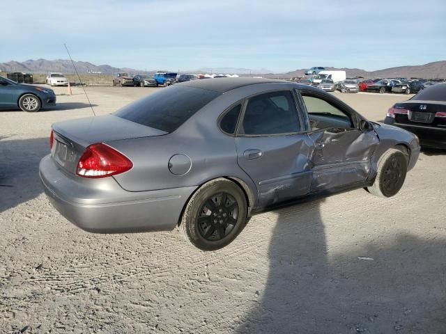
M242 123L242 134L291 134L302 131L293 94L280 91L249 99Z

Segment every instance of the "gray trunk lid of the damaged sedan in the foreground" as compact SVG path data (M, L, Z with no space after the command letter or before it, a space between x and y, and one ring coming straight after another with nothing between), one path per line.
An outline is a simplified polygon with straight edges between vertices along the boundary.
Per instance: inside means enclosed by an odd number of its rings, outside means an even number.
M52 158L72 174L76 173L77 162L85 148L91 144L167 134L113 115L57 122L52 128Z

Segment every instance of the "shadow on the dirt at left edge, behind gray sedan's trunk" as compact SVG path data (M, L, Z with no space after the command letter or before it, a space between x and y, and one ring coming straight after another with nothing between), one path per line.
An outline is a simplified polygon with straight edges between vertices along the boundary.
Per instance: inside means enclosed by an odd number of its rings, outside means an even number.
M0 213L42 193L38 166L46 154L49 138L0 140Z

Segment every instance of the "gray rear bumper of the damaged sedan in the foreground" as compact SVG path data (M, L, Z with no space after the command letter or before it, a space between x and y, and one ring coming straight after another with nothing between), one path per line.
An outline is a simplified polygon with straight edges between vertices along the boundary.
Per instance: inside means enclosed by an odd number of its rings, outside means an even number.
M57 211L82 230L95 233L172 230L197 188L125 191L112 177L67 175L49 155L40 161L39 174Z

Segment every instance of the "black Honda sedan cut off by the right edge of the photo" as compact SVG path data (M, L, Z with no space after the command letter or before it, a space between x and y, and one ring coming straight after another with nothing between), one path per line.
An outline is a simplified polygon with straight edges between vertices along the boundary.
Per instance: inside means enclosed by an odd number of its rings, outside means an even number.
M446 83L394 104L384 122L416 134L422 146L446 149Z

